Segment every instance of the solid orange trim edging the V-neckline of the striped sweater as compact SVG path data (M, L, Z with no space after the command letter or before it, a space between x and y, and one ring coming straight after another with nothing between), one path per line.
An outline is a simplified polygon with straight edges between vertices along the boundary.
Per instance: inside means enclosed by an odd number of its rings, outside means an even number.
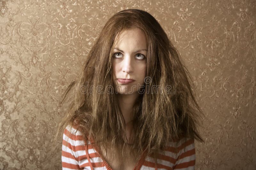
M100 148L95 145L95 143L92 139L91 139L91 141L93 142L93 144L92 144L93 149L99 154L100 158L103 160L103 166L106 166L107 170L113 170L112 167L108 164L108 162L105 159L103 159L103 156L100 152ZM140 159L136 163L133 170L139 170L141 168L141 166L146 158L146 152L147 152L147 150L144 150L144 152L142 152L142 154L140 155Z

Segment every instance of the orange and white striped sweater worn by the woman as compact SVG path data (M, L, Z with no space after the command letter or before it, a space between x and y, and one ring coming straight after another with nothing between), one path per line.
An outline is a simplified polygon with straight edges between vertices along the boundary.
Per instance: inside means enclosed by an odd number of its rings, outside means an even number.
M142 154L133 170L194 170L196 163L194 139L183 138L177 142L177 155L174 154L174 148L171 145L160 154L157 164L153 158ZM87 144L90 144L90 141ZM85 145L81 132L76 131L74 127L67 126L62 141L62 169L112 170L108 163L102 159L98 149L96 146Z

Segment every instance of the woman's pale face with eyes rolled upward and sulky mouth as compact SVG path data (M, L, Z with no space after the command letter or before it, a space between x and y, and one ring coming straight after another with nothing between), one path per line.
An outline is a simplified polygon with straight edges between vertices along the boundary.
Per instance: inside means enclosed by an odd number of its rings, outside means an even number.
M147 42L144 32L139 28L131 28L120 34L113 51L115 90L119 94L137 93L144 85L146 63ZM132 81L124 79L132 79Z

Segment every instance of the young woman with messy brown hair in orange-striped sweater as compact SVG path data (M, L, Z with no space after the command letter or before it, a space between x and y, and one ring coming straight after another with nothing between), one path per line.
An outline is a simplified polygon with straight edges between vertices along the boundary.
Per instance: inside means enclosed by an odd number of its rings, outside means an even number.
M62 168L195 169L203 114L189 81L153 16L116 13L65 92L72 103L58 129Z

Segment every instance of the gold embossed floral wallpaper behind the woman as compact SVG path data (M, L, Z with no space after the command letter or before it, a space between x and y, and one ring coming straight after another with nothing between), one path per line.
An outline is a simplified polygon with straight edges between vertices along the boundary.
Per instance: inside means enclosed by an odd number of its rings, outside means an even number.
M194 78L207 117L196 169L255 169L255 1L0 0L1 170L61 169L61 95L129 8L159 21Z

